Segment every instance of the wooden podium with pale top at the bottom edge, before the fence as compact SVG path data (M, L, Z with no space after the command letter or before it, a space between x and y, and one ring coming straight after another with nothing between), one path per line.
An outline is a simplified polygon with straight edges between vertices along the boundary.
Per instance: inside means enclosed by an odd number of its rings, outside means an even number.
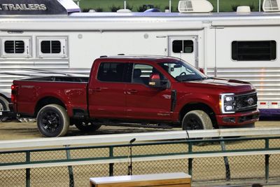
M90 187L190 187L190 182L190 175L179 172L90 178Z

